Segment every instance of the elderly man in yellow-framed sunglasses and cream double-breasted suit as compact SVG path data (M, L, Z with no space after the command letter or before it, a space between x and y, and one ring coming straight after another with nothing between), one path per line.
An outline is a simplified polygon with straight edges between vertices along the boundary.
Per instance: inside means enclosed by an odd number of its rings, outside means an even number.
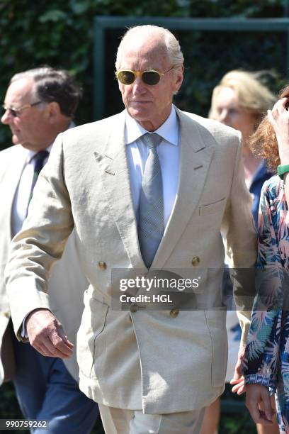
M72 354L49 310L47 277L74 229L90 283L77 336L79 385L100 403L106 433L195 434L204 407L224 389L225 312L152 310L142 302L117 310L112 279L115 270L126 278L203 269L201 291L214 297L225 256L221 230L234 267L254 266L240 135L173 106L183 55L169 30L128 30L116 70L125 111L58 136L13 239L6 282L14 329L21 339L28 315L38 351ZM154 211L144 236L147 209ZM245 335L249 320L241 318Z

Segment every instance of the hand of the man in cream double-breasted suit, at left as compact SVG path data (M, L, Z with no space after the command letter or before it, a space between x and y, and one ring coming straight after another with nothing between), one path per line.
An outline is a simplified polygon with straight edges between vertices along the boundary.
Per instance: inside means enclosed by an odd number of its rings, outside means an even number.
M64 334L61 323L47 309L35 309L26 318L26 329L30 344L40 354L67 359L74 345Z

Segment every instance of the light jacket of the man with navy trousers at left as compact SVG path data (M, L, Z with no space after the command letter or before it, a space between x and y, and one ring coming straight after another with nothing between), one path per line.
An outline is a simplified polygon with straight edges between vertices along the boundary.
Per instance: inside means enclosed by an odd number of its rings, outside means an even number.
M26 162L27 150L21 145L12 146L0 152L0 384L4 379L4 369L11 370L13 352L11 352L8 336L8 322L10 308L4 284L4 267L7 262L8 250L11 243L11 211L13 199ZM89 286L79 267L79 258L75 248L74 232L69 236L67 247L60 262L53 267L49 291L50 309L64 324L64 328L72 343L76 343L77 330L81 322L83 311L83 294ZM23 287L25 292L25 286ZM21 299L17 301L21 304ZM5 335L6 332L6 335ZM2 341L5 335L5 342ZM8 356L9 354L9 356ZM4 362L5 361L5 362ZM79 369L74 355L64 360L69 372L79 381Z

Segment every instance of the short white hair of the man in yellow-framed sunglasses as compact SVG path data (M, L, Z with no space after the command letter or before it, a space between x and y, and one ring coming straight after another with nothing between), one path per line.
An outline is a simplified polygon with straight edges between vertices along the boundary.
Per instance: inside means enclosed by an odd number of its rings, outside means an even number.
M161 35L164 40L164 45L173 65L181 66L183 65L183 53L181 52L181 47L179 40L171 33L167 28L152 26L147 24L146 26L135 26L129 28L128 31L123 35L120 45L118 45L118 52L116 53L115 69L118 70L120 67L120 60L123 53L123 48L128 38L132 38L138 35L143 35L144 40L148 35L158 34Z

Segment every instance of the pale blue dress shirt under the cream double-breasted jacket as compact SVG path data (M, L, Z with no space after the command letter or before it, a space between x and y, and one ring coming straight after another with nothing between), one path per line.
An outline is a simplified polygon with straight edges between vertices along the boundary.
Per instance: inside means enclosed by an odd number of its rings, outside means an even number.
M132 191L132 202L137 222L139 218L142 175L149 155L149 148L140 140L141 136L145 133L148 133L148 131L126 113L125 144L127 145L128 166L130 170L130 189ZM166 228L171 210L176 201L179 184L179 121L174 106L171 108L169 118L154 133L162 137L161 143L157 146L157 153L162 170L164 228Z

